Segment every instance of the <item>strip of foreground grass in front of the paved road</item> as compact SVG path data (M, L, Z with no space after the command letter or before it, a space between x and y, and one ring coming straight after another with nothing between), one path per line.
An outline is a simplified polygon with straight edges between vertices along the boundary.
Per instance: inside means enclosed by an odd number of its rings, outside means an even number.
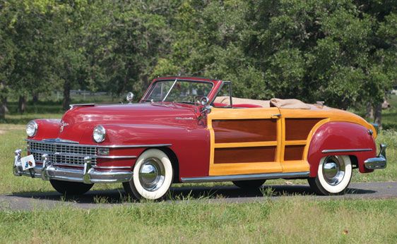
M396 200L300 197L0 212L1 243L396 243Z

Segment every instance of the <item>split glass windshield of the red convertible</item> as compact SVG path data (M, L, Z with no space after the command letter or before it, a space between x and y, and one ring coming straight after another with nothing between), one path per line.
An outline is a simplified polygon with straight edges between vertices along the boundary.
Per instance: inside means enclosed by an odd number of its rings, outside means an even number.
M213 88L212 83L189 80L162 80L153 84L142 102L182 102L198 104L207 97Z

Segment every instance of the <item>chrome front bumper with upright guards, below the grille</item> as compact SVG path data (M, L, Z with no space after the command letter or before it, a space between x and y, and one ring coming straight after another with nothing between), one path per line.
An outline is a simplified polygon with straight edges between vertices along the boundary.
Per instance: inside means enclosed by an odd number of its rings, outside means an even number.
M41 166L35 166L32 169L23 171L22 165L20 164L20 152L21 150L15 151L13 165L13 174L15 176L30 176L32 178L42 178L45 181L59 180L92 184L126 182L131 180L133 174L131 171L120 170L98 171L93 168L89 157L85 158L83 169L54 166L45 154L43 155Z

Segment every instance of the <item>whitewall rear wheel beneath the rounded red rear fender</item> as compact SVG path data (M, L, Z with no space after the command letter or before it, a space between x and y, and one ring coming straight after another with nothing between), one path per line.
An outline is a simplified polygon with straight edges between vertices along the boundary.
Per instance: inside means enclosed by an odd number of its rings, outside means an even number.
M349 156L328 156L320 160L315 178L309 178L309 185L317 195L343 195L352 178L352 164Z

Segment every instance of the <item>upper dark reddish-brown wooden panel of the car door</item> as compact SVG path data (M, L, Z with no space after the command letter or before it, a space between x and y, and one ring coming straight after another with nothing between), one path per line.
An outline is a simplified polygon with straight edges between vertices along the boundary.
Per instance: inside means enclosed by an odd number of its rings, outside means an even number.
M268 119L213 120L215 143L277 140L277 121Z

